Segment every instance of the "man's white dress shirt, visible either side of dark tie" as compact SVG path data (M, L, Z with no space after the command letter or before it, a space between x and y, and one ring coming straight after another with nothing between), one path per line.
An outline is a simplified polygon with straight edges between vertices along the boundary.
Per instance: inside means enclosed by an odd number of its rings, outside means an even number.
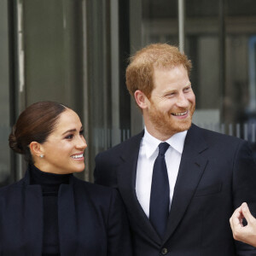
M187 131L182 131L166 140L166 143L170 144L166 151L166 167L170 184L170 207L186 135ZM151 136L145 127L137 161L136 194L148 218L153 166L154 160L158 155L158 145L160 143L162 142Z

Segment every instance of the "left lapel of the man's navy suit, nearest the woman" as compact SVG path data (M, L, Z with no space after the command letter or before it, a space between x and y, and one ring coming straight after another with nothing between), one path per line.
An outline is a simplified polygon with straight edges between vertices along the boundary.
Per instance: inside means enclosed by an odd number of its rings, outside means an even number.
M148 217L137 200L135 189L137 159L142 137L143 132L136 137L133 137L129 143L126 143L125 150L120 155L122 163L119 165L117 172L119 192L125 201L127 211L129 212L132 221L137 222L137 226L141 227L143 233L148 236L151 241L160 244L160 236L150 224Z

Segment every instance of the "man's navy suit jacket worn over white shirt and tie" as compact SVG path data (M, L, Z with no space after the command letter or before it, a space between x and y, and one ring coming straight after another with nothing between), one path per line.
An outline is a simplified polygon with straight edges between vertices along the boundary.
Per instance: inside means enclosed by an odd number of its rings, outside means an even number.
M185 139L166 235L160 239L137 200L143 132L96 156L95 181L119 190L136 256L256 255L233 240L229 218L247 201L256 212L256 166L247 142L192 125Z

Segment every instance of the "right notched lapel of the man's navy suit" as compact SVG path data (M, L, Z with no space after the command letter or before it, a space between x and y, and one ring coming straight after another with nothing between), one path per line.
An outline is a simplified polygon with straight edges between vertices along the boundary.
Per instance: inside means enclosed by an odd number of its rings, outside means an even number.
M201 156L201 152L206 149L207 143L201 137L199 128L192 125L184 143L164 242L172 236L177 225L182 220L189 202L195 193L195 189L201 180L207 166L207 159Z

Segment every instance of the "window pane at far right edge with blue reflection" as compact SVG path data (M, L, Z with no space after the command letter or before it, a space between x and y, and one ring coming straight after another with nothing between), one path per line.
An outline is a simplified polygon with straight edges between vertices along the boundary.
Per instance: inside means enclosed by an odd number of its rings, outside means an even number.
M224 120L256 154L256 2L226 2Z

